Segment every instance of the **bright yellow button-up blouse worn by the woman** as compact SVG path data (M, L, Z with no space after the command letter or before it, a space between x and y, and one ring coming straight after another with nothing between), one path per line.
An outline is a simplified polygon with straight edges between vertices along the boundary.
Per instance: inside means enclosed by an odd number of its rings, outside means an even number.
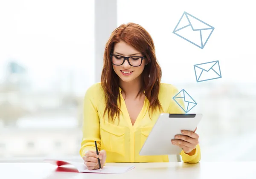
M119 88L119 92L121 93L121 88ZM158 99L164 113L184 113L180 106L172 99L178 92L177 88L173 85L160 84ZM183 102L180 101L180 103ZM87 150L95 151L94 141L96 141L98 150L104 149L107 153L106 162L169 162L168 155L139 155L140 149L160 115L159 112L155 112L151 115L150 119L148 107L149 101L145 98L143 108L134 125L132 125L125 101L121 95L120 108L122 112L120 112L119 123L118 119L114 122L109 121L108 113L105 113L104 121L105 94L100 82L92 85L84 96L83 138L80 155L83 156ZM183 162L197 163L201 159L200 147L199 145L196 146L195 154L192 156L184 153L184 151L180 155Z

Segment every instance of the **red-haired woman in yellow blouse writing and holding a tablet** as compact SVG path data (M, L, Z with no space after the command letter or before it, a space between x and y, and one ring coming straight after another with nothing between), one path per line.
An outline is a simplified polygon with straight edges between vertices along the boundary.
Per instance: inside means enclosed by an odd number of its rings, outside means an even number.
M177 88L160 83L161 75L153 40L142 26L122 24L112 32L101 82L84 97L80 155L89 170L99 168L97 157L102 166L105 162L169 162L168 156L139 155L160 113L183 113L172 99ZM183 148L183 162L199 162L198 134L184 131L177 137L170 142Z

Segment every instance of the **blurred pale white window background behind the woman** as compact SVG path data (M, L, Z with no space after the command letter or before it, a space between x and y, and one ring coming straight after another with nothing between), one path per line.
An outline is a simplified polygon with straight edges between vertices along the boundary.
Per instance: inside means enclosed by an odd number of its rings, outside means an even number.
M244 0L0 1L0 161L79 159L82 102L100 81L105 43L122 23L154 40L162 82L202 113L201 161L256 160L255 17ZM172 31L183 12L215 29L204 49ZM222 78L193 65L219 60ZM168 95L168 94L166 94Z

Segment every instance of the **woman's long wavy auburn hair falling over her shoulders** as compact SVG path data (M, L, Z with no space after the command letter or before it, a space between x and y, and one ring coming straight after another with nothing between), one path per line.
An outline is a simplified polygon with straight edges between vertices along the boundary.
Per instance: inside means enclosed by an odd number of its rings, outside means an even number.
M119 94L119 77L113 70L110 57L110 54L113 53L114 45L120 41L124 41L128 45L133 46L137 51L140 51L143 56L146 56L145 59L148 60L148 64L145 65L143 73L141 74L143 84L138 95L145 91L145 97L149 101L149 111L151 111L151 113L157 110L157 108L161 111L162 106L158 100L158 94L162 70L157 62L154 42L145 28L135 23L128 23L122 24L116 28L112 32L105 46L104 64L101 75L101 85L105 92L106 102L104 116L108 111L109 119L114 121L116 116L118 116L119 119L121 111L120 106L118 106L117 103L117 100L119 99L119 104L121 104Z

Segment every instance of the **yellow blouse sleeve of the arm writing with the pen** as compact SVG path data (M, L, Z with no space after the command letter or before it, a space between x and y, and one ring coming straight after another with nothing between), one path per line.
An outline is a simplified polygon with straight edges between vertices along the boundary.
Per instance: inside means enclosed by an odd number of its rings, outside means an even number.
M82 142L80 155L83 157L87 150L95 151L94 141L97 142L100 151L100 125L96 106L96 94L93 88L89 88L84 96Z

